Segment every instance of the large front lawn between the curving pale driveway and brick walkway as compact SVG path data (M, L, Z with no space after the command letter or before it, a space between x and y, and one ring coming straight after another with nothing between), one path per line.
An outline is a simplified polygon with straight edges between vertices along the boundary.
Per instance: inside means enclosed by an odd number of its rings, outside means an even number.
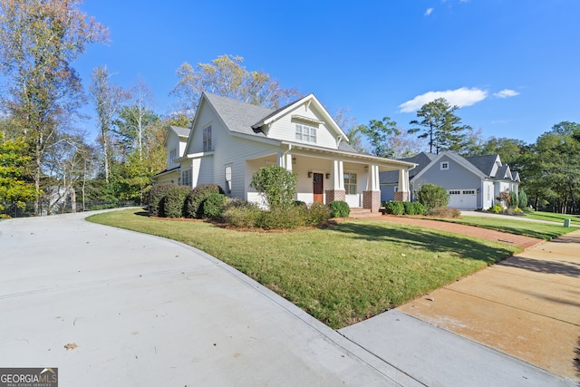
M331 228L242 232L122 210L91 221L168 237L236 267L335 329L380 314L521 248L423 227L346 220Z

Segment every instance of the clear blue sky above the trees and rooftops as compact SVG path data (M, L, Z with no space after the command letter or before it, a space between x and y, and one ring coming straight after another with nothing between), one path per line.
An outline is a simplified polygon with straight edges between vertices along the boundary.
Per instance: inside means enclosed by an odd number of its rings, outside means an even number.
M123 87L147 82L160 112L175 103L181 63L228 53L359 123L389 116L408 129L437 97L485 138L532 143L580 122L578 0L87 0L82 10L111 34L73 63L85 86L106 64Z

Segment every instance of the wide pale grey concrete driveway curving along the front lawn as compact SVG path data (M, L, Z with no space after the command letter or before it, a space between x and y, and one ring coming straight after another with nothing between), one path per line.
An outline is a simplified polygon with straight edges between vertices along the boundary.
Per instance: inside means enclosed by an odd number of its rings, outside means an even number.
M0 367L58 367L61 387L574 385L398 311L333 331L194 248L84 216L0 222Z

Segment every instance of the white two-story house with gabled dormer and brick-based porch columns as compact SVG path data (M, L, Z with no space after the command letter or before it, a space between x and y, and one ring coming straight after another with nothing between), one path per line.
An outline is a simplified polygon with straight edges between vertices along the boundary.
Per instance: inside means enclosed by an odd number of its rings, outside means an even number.
M381 207L379 173L394 171L401 178L398 198L409 198L409 170L415 164L353 150L313 94L274 111L203 93L187 131L169 129L168 165L156 176L158 182L191 188L214 183L231 198L260 203L256 189L249 187L252 175L277 165L295 172L296 200L344 200L353 208L376 212ZM179 151L178 159L169 155L173 150Z

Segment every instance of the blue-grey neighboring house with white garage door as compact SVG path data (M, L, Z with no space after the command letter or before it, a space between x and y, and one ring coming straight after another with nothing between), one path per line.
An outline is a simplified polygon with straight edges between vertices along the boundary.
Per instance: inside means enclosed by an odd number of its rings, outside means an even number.
M488 209L498 203L500 192L517 192L520 183L519 174L502 164L499 155L463 158L447 151L439 155L421 152L401 160L418 164L411 170L411 199L421 185L436 184L447 189L452 208ZM382 172L380 179L381 199L393 200L398 189L397 174Z

